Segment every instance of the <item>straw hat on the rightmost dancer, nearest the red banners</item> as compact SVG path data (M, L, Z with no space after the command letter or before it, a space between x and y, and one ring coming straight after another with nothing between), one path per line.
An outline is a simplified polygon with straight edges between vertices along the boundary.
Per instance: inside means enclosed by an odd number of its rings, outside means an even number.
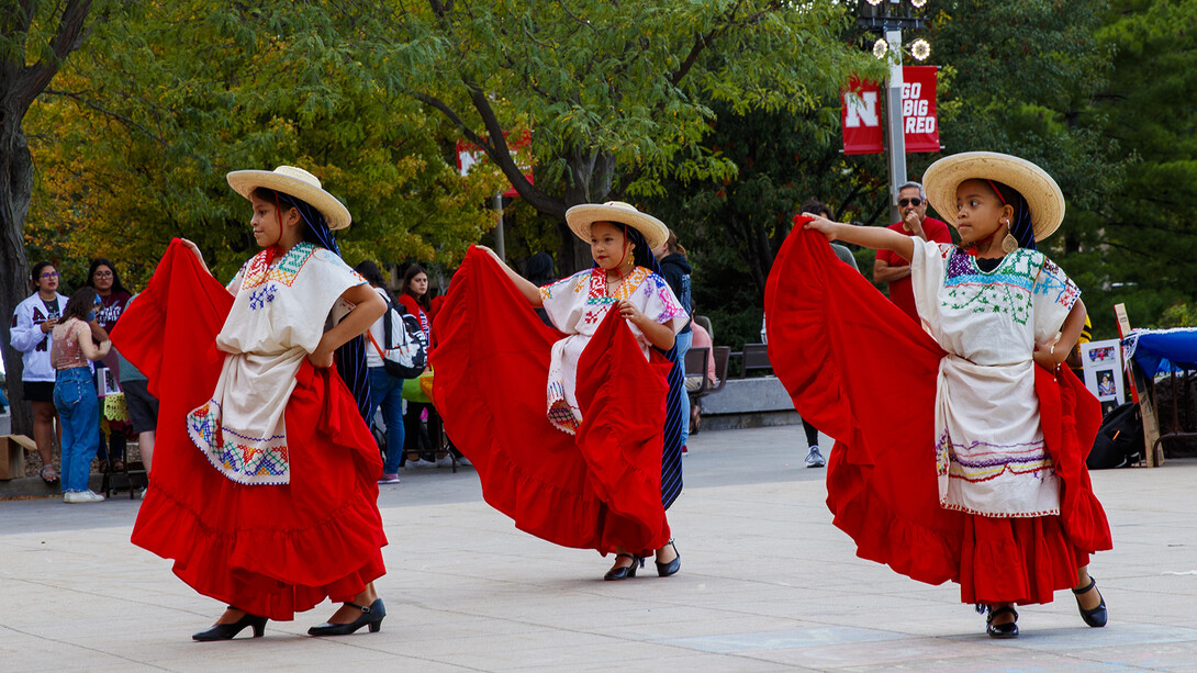
M953 226L956 187L966 180L992 180L1017 189L1031 207L1035 241L1051 236L1064 220L1064 194L1044 169L998 152L961 152L935 162L923 174L926 200Z

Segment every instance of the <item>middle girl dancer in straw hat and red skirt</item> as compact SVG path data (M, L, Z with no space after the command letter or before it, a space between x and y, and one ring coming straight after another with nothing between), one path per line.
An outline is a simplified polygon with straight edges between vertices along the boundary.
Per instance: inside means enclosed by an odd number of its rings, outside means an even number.
M433 328L433 398L487 502L517 527L615 552L606 580L651 553L669 576L681 566L666 520L681 490L673 346L688 321L655 271L669 234L618 201L565 218L594 268L536 287L486 248L466 256Z

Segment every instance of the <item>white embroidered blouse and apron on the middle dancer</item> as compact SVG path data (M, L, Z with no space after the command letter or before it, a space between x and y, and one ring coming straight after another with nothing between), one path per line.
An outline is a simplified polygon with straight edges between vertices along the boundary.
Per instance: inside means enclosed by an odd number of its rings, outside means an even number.
M674 334L689 320L666 279L640 266L627 274L613 295L607 292L607 272L593 268L541 287L540 298L548 319L569 334L553 344L548 364L547 413L553 425L570 435L582 425L582 410L576 394L578 358L615 302L630 301L655 322L669 325ZM636 325L628 322L627 326L648 358L649 340Z

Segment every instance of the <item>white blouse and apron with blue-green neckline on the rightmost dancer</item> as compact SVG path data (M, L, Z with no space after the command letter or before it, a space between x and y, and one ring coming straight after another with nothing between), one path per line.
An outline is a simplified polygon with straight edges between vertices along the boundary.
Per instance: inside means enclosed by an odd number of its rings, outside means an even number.
M940 503L997 517L1059 514L1032 352L1052 347L1081 291L1037 250L984 272L956 245L915 238L913 257L923 328L948 352L935 401Z

